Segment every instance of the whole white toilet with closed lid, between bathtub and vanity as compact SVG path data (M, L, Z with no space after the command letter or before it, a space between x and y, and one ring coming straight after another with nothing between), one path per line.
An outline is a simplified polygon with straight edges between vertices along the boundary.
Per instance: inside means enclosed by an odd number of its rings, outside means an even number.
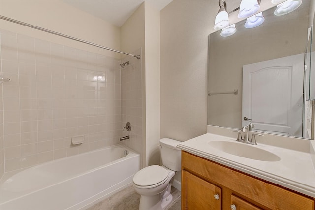
M170 138L160 139L162 166L151 165L138 171L133 186L140 195L139 210L164 210L173 200L171 186L176 171L181 170L181 143Z

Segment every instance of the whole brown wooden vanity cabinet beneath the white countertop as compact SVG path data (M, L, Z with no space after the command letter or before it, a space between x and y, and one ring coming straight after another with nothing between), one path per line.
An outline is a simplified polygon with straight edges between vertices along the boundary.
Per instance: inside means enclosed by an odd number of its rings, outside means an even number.
M182 151L182 210L315 210L315 199Z

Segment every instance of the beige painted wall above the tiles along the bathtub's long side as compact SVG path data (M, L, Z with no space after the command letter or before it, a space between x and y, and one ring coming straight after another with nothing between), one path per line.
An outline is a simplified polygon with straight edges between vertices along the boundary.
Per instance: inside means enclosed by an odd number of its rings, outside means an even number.
M113 49L120 49L120 28L58 0L1 0L0 14ZM119 53L0 20L1 28L120 59Z

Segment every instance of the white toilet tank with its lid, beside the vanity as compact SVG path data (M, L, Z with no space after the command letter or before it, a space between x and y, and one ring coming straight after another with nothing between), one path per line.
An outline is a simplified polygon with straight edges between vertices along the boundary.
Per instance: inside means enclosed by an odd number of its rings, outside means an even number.
M159 140L159 143L163 165L173 171L180 171L181 149L178 149L176 146L182 142L170 138L162 138Z

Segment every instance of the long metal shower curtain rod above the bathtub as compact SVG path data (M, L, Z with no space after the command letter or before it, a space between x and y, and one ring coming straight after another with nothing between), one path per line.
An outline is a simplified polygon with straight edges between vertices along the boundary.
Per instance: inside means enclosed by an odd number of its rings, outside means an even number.
M95 47L103 48L105 50L114 51L116 53L126 54L126 55L129 55L129 56L132 56L132 57L136 57L138 60L140 59L140 55L133 55L133 54L125 53L125 52L122 52L122 51L114 50L114 49L111 49L111 48L108 48L108 47L104 47L104 46L101 46L101 45L94 44L92 42L88 42L88 41L85 41L85 40L82 40L82 39L77 39L77 38L72 37L72 36L68 36L68 35L65 35L65 34L62 34L62 33L58 33L58 32L52 31L52 30L48 30L48 29L45 29L45 28L42 28L42 27L38 27L38 26L34 26L34 25L31 25L31 24L27 24L27 23L21 22L21 21L17 21L17 20L14 20L14 19L2 16L2 15L0 15L0 19L6 20L6 21L10 21L12 23L16 23L16 24L19 24L19 25L22 25L22 26L31 27L31 28L34 28L34 29L37 29L37 30L41 30L41 31L47 32L47 33L55 34L57 36L62 36L64 38L72 39L72 40L75 40L75 41L78 41L78 42L83 42L83 43L88 44L88 45L93 45Z

